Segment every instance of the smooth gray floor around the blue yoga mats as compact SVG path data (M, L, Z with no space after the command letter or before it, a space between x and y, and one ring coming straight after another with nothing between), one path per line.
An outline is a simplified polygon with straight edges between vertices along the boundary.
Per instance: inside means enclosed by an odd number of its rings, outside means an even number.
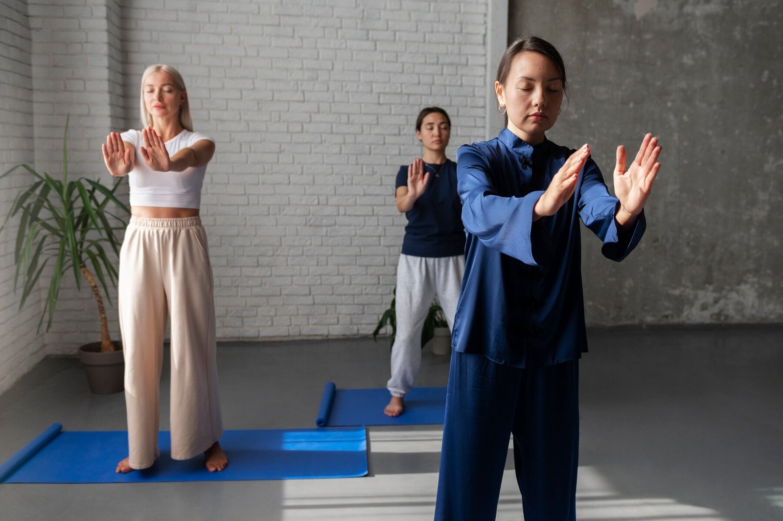
M591 330L580 365L578 519L783 519L781 339L783 325ZM226 428L311 427L327 380L384 385L388 343L223 343L218 365ZM447 373L447 357L426 353L420 385L445 385ZM164 378L163 428L167 388ZM0 396L0 462L56 421L124 429L124 399L90 394L74 359L42 361ZM363 478L2 484L0 519L432 519L441 429L368 433ZM497 519L521 519L511 461Z

